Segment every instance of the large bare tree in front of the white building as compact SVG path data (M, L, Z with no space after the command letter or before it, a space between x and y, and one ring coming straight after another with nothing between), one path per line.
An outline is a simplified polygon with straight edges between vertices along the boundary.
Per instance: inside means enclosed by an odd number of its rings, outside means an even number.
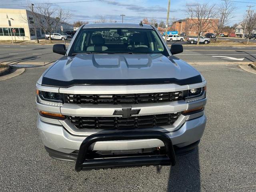
M32 12L32 6L29 5L28 9ZM56 30L57 26L67 22L71 17L68 10L64 10L59 6L52 6L52 4L44 3L34 6L32 15L36 24L45 32L50 35L50 42L52 42L51 34Z

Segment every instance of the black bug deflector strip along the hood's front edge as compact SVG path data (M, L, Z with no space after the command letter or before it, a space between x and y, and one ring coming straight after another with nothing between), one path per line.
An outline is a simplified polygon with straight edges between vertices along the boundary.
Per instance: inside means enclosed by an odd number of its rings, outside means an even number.
M56 87L71 87L75 85L144 85L144 84L196 84L201 83L201 75L186 79L162 78L162 79L74 79L71 81L61 81L43 77L42 85Z

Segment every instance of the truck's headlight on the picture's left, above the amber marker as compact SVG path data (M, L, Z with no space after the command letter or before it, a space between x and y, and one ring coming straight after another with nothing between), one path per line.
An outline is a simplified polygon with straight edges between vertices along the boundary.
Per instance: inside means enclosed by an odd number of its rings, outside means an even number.
M36 101L44 105L60 107L63 104L63 97L60 93L36 90Z

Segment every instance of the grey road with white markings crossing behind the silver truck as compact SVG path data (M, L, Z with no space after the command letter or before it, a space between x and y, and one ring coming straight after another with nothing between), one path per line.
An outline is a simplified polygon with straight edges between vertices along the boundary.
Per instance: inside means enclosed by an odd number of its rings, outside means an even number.
M0 44L0 49L0 63L47 64L62 57L52 52L52 45ZM186 62L256 62L256 47L184 46L184 52L175 56Z

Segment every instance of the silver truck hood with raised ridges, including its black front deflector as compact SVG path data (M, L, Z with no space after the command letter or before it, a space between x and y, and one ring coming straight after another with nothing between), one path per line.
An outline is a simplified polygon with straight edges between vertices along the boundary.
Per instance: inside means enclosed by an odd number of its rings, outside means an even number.
M162 54L77 54L62 57L42 76L42 85L166 84L202 82L186 62Z

